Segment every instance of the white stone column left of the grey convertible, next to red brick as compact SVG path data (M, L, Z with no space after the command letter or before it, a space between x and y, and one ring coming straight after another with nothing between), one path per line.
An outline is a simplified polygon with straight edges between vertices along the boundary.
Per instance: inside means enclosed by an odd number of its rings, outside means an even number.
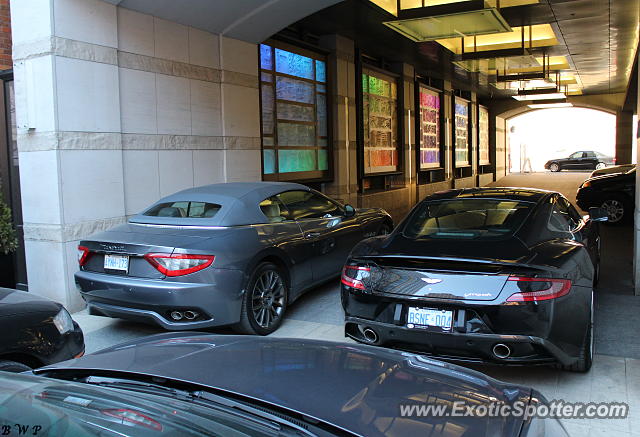
M78 239L125 215L116 8L13 0L11 18L29 291L73 311Z

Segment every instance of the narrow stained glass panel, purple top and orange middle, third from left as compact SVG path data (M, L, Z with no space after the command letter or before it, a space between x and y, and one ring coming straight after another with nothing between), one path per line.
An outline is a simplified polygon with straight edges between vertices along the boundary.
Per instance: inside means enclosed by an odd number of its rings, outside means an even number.
M420 87L420 169L440 167L440 94Z

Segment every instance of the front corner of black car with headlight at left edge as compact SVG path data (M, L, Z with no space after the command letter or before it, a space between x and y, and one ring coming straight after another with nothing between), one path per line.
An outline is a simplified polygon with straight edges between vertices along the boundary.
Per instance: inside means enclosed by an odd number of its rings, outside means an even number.
M82 355L84 336L59 303L0 288L0 371L23 372Z

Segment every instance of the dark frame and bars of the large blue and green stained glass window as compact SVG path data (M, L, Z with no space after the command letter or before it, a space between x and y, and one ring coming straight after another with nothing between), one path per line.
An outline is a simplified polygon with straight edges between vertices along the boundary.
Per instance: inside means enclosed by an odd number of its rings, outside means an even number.
M271 56L272 56L272 68L271 70L268 69L263 69L262 68L262 63L261 63L261 53L260 53L260 48L261 45L266 45L266 46L270 46L271 47ZM288 75L286 73L277 73L276 72L276 66L275 66L275 51L276 49L279 50L284 50L284 51L288 51L297 55L301 55L301 56L305 56L308 58L311 58L314 61L314 65L313 65L313 71L314 71L314 79L306 79L306 78L302 78L302 77L298 77L298 76L292 76L292 75ZM333 125L332 125L332 105L333 105L333 99L331 96L331 93L329 92L329 86L332 82L332 76L331 76L331 72L329 71L329 52L327 52L326 50L322 50L320 48L318 48L317 50L314 48L313 50L307 49L307 48L303 48L303 47L298 47L292 44L288 44L286 42L283 41L278 41L278 40L273 40L273 39L269 39L267 41L264 41L262 44L258 44L258 95L259 95L259 106L260 106L260 162L261 162L261 174L262 174L262 180L264 181L276 181L276 182L287 182L287 181L296 181L296 182L309 182L309 183L313 183L313 182L331 182L334 179L334 163L333 163ZM316 71L316 64L315 61L322 61L325 64L325 81L323 83L318 82L315 80L315 71ZM262 80L262 74L266 73L266 74L270 74L271 75L271 82L267 82L267 81L263 81ZM308 122L308 123L303 123L303 124L312 124L314 126L314 131L315 131L315 145L314 146L305 146L305 148L313 148L316 151L319 151L322 149L322 147L319 145L319 140L320 139L326 139L327 142L327 146L326 146L326 151L327 151L327 169L326 170L311 170L311 171L298 171L298 172L280 172L279 169L279 151L281 150L281 148L287 150L288 147L287 146L279 146L278 145L278 133L277 133L277 129L278 129L278 112L277 112L277 104L279 99L277 99L277 88L276 88L276 78L277 77L285 77L285 78L290 78L290 79L294 79L294 80L299 80L299 81L303 81L303 82L308 82L313 84L314 86L314 103L313 104L309 104L309 106L313 105L313 114L314 114L314 118L315 121L314 122ZM264 102L263 102L263 98L262 98L262 87L263 84L270 84L271 85L271 89L273 90L273 133L272 134L265 134L264 133L264 128L263 128L263 106L264 106ZM318 91L318 85L324 85L325 90L324 92L322 91ZM326 106L326 124L327 124L327 135L326 137L318 135L318 118L317 118L317 98L318 95L322 94L325 97L325 106ZM281 103L287 103L288 101L286 100L281 100ZM291 120L281 120L281 121L285 121L285 122L291 122ZM295 123L294 123L295 124ZM273 138L273 145L272 146L265 146L264 144L264 139L265 137L271 137ZM302 147L302 146L300 146ZM264 158L264 151L265 150L274 150L274 173L265 173L265 158ZM291 149L289 149L291 150ZM294 150L301 150L300 148L296 148ZM317 163L317 159L318 159L318 155L316 154L316 163Z

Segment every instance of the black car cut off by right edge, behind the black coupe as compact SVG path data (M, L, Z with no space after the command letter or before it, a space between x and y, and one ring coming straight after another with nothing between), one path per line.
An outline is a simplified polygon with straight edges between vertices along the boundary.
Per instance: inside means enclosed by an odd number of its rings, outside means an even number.
M589 178L580 185L576 195L578 206L587 211L602 207L609 223L624 223L633 217L635 209L636 169Z

